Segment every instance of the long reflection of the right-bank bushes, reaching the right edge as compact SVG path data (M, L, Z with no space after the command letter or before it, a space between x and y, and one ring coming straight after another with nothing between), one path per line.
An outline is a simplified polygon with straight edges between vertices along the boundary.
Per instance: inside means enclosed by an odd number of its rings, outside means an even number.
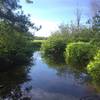
M94 83L94 80L88 75L86 67L70 66L66 64L64 57L56 56L46 56L42 55L43 61L49 66L57 70L57 75L66 76L66 73L71 74L75 77L76 82L79 84L92 85L92 88L100 93L100 82Z

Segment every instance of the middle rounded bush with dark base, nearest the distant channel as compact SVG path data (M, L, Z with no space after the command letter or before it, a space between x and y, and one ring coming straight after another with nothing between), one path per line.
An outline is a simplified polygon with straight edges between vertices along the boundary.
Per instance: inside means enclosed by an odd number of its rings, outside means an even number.
M61 34L53 34L43 42L41 50L47 55L62 55L66 47L66 40Z

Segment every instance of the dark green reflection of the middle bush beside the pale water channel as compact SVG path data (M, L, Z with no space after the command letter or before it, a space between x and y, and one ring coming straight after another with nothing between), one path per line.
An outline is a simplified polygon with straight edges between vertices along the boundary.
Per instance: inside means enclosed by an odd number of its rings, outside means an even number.
M49 66L49 68L53 68L57 70L57 75L62 76L67 71L67 67L65 64L65 60L63 56L60 55L43 55L43 61Z

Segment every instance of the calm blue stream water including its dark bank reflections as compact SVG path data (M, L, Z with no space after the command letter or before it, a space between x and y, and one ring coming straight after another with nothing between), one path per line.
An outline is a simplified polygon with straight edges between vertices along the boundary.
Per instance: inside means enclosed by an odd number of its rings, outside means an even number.
M96 96L84 71L42 58L35 52L30 66L0 73L0 100L81 100ZM100 98L82 99L100 100Z

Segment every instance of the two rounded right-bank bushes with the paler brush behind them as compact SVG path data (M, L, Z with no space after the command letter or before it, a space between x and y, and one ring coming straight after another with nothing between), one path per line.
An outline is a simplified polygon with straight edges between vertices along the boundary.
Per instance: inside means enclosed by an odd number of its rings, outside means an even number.
M67 48L65 45L68 45ZM72 66L86 66L100 47L100 32L75 25L61 25L43 44L42 51L46 55L62 55L66 48L67 62Z

